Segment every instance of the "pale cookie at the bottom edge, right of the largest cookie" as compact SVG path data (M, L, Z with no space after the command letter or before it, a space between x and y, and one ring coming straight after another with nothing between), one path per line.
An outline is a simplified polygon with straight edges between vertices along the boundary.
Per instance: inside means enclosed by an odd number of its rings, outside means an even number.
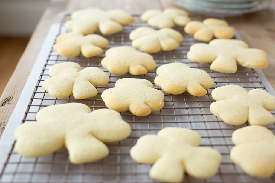
M200 179L214 176L221 154L208 147L197 147L200 135L189 129L168 127L158 135L144 135L131 148L130 156L138 163L153 164L152 179L181 182L184 172Z

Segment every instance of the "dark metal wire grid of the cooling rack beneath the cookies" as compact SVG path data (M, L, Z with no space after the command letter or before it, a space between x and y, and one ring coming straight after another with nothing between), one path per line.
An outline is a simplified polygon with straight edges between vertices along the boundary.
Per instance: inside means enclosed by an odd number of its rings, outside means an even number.
M196 19L196 17L192 17ZM69 19L65 16L64 21ZM125 26L121 33L105 36L109 40L110 47L120 45L131 45L129 33L137 27L147 26L140 21L139 16L135 16L135 23ZM176 27L176 30L184 34L184 41L180 47L169 52L152 54L157 67L170 62L184 62L192 68L205 70L215 81L213 88L207 90L207 95L202 97L191 96L188 93L181 95L168 95L164 97L164 107L159 111L152 112L149 116L134 116L129 111L122 112L123 119L132 127L131 135L120 142L107 144L110 150L109 156L97 162L74 165L68 161L68 152L64 148L53 154L38 158L25 158L17 154L13 148L10 149L9 156L0 174L2 182L156 182L149 178L148 171L150 165L135 163L130 155L130 148L136 140L145 134L156 134L164 127L184 127L197 131L202 139L201 146L212 147L222 154L222 163L219 172L210 179L194 179L185 175L184 182L275 182L275 176L269 179L255 179L246 175L238 166L234 165L230 158L230 149L233 147L231 135L237 128L247 126L248 123L238 127L225 124L221 119L214 116L209 105L214 101L211 91L219 86L237 84L247 90L254 88L266 90L261 79L253 69L238 67L236 73L218 73L210 70L210 64L198 64L187 60L186 54L190 45L197 43L192 36L184 33L183 27ZM67 30L61 24L59 33ZM97 32L100 34L99 32ZM85 58L82 55L74 58L59 56L53 50L49 53L48 59L34 88L29 105L26 106L25 117L22 122L35 120L36 113L48 105L80 102L88 105L91 110L106 107L101 99L101 93L106 88L114 87L115 81L120 78L132 77L148 79L153 83L156 76L155 70L146 75L132 76L126 74L118 76L110 74L101 67L100 61L104 54ZM102 87L97 87L98 95L89 99L77 100L73 96L68 98L53 98L48 92L42 89L41 84L49 78L48 69L54 64L64 61L73 61L81 65L82 68L88 66L100 67L110 76L109 83ZM160 89L154 85L154 88ZM274 111L271 113L275 116ZM267 126L275 132L275 125Z

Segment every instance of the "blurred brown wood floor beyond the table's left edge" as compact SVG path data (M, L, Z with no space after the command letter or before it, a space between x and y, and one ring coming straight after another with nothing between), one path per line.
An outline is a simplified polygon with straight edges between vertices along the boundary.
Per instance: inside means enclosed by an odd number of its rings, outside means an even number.
M2 95L10 76L19 61L29 37L1 37L0 36L0 96Z

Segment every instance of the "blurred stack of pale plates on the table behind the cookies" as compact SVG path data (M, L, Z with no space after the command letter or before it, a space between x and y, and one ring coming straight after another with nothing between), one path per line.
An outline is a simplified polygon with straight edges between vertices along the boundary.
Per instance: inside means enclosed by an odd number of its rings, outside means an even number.
M195 13L207 16L238 16L268 8L272 0L170 0Z

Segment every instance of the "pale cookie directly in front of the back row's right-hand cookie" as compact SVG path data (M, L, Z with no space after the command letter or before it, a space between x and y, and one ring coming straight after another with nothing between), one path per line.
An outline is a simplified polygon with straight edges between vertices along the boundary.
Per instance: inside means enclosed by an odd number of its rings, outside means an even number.
M171 28L155 30L150 27L138 27L130 33L129 38L132 40L132 47L146 53L157 53L161 50L176 49L183 36Z

